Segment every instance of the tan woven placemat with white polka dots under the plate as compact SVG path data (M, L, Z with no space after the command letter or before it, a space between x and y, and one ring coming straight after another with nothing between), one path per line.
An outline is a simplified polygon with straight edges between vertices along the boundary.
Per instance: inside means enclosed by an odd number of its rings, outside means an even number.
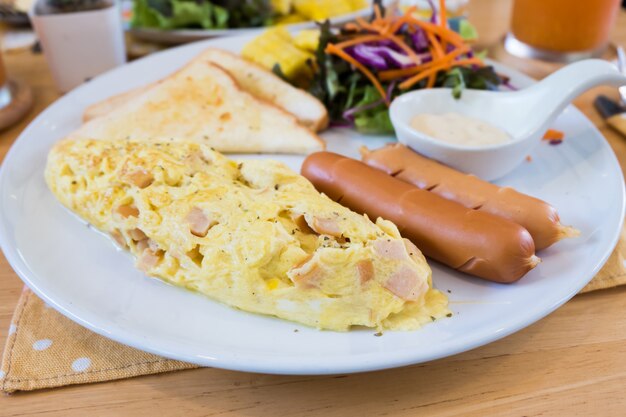
M581 291L626 284L626 232L606 265ZM13 315L0 390L10 393L195 368L116 343L65 318L25 289Z

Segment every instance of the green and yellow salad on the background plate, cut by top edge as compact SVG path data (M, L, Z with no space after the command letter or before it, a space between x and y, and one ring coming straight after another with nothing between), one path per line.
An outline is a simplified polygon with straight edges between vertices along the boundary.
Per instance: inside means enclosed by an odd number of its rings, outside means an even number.
M227 29L323 20L365 8L366 0L134 0L132 27Z

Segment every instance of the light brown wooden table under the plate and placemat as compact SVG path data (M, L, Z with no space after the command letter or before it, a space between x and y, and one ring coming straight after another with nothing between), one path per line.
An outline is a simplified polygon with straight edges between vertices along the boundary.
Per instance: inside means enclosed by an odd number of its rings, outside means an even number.
M614 39L626 44L626 13L617 27ZM58 96L45 61L30 53L7 55L5 61L10 74L34 89L32 119ZM536 76L545 70L522 67ZM604 126L592 108L599 92L616 96L611 89L595 89L576 105L602 130L626 168L626 139ZM0 159L27 123L0 135ZM0 256L2 345L21 288ZM626 287L614 288L577 296L503 340L426 364L323 377L198 369L0 396L0 416L624 416L624 312Z

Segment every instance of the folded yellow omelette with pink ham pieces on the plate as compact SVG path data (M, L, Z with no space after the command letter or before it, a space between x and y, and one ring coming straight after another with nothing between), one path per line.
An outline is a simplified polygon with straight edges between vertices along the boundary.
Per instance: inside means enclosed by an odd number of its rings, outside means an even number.
M449 314L421 252L318 193L282 163L232 161L190 141L65 140L56 198L147 275L318 329L415 329Z

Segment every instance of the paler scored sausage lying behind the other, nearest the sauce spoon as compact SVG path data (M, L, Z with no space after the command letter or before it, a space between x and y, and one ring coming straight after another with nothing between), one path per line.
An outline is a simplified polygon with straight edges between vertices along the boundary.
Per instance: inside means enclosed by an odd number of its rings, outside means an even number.
M363 162L399 180L523 226L533 237L536 250L580 234L573 227L563 226L556 209L545 201L464 174L399 143L375 151L363 149L361 153Z

